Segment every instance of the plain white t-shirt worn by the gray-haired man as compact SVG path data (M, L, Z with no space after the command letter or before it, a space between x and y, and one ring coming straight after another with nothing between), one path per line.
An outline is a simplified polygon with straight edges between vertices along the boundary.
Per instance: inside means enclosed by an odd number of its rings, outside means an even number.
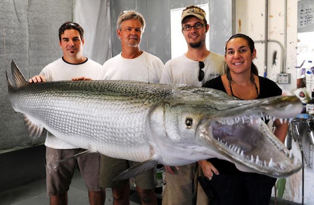
M123 58L119 53L104 63L102 79L159 83L163 68L158 57L144 51L134 59Z

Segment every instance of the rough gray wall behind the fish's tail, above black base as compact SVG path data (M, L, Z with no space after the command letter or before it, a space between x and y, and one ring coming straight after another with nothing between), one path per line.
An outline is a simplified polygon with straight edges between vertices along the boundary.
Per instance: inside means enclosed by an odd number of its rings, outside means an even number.
M21 114L13 111L4 72L14 60L28 79L60 58L58 28L67 20L72 20L72 0L0 1L0 153L43 142L27 136Z

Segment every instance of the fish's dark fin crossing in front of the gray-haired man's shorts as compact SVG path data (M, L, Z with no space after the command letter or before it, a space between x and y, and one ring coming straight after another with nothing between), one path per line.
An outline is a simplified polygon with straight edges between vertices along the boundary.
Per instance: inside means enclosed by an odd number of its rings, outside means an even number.
M129 169L120 173L112 181L116 182L116 181L120 181L120 180L130 179L130 178L135 177L136 175L142 174L143 172L150 170L152 168L156 169L157 164L158 163L155 160L145 161L143 163L140 163L138 165L130 167Z

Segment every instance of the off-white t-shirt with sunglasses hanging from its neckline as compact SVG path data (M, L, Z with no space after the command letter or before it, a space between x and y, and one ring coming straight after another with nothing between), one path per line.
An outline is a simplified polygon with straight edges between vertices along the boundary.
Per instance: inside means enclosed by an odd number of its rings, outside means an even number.
M199 62L182 55L169 60L165 64L160 83L188 84L202 87L202 85L210 79L225 73L226 64L222 55L210 52L203 62L205 64L205 67L202 69L205 74L203 81L199 81Z

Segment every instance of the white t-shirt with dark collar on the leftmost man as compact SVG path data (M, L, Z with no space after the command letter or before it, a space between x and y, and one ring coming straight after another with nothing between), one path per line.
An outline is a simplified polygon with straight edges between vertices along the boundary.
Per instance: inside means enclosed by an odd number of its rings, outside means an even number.
M71 80L75 77L88 77L93 80L99 80L102 65L88 59L81 64L70 64L65 62L62 58L48 64L41 72L47 81L63 81ZM47 138L45 141L47 147L55 149L74 149L78 148L70 145L61 139L55 137L50 132L47 132Z

